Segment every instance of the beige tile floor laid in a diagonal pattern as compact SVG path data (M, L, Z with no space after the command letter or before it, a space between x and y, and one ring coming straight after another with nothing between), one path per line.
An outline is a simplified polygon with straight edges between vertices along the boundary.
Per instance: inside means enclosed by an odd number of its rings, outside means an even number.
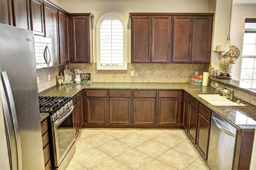
M83 128L66 170L209 170L182 129Z

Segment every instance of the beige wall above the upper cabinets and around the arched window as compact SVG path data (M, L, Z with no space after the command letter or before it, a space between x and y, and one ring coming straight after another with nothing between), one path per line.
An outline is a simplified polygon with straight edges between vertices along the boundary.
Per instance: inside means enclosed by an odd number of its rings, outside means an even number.
M208 12L208 0L59 0L59 6L70 13L94 15L93 51L96 62L96 24L108 12L120 14L128 24L129 12ZM131 60L131 34L127 29L127 59Z

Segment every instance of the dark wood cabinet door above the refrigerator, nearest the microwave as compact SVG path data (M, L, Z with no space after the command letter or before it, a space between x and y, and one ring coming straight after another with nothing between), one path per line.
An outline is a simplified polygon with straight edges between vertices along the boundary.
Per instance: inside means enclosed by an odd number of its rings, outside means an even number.
M31 29L29 0L13 0L14 26L18 28Z

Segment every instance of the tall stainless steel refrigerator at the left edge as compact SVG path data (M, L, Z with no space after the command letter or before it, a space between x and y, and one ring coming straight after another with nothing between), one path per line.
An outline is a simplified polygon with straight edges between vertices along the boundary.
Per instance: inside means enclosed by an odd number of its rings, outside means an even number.
M44 169L32 31L0 24L0 70L0 169Z

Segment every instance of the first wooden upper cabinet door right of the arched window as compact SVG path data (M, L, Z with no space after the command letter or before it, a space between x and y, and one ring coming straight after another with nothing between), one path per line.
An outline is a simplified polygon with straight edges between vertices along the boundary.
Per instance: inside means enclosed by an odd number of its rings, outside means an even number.
M151 17L132 17L132 63L151 62Z

